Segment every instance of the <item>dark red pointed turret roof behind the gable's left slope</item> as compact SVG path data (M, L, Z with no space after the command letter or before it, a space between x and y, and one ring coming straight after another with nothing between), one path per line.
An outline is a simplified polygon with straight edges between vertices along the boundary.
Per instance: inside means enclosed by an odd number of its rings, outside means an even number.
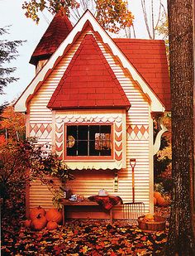
M30 63L36 65L39 60L49 59L72 29L73 26L66 15L62 14L62 12L55 14L50 26L36 46Z

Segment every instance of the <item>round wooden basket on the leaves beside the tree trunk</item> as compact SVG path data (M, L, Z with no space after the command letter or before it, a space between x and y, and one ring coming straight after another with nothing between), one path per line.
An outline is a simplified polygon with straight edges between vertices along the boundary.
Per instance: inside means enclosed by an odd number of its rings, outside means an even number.
M145 215L138 218L138 226L145 231L162 231L165 229L165 219L161 216L154 216L154 220L143 220Z

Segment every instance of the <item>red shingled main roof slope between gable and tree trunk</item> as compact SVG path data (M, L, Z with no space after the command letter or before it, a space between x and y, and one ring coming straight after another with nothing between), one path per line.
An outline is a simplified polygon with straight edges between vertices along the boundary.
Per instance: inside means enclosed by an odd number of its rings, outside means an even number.
M166 110L170 110L169 69L164 41L121 38L113 41L150 85Z

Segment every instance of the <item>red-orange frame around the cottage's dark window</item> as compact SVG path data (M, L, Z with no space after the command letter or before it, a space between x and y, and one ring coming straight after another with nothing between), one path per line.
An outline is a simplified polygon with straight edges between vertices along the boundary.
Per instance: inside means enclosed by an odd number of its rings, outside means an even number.
M66 155L66 131L67 131L67 126L69 125L111 125L111 147L112 147L112 151L111 151L111 156L75 156L75 157L69 157ZM65 123L64 124L64 160L65 161L71 161L71 162L98 162L98 160L106 160L106 161L113 161L114 160L114 125L113 123Z

